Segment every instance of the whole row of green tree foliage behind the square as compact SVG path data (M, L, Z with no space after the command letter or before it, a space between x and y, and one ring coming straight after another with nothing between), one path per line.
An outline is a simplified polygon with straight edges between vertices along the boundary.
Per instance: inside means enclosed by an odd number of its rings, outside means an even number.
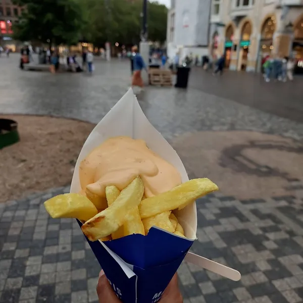
M104 46L105 42L136 44L140 41L143 0L14 0L25 6L14 26L18 40L48 40L73 44L79 40ZM148 39L166 39L167 8L148 2Z

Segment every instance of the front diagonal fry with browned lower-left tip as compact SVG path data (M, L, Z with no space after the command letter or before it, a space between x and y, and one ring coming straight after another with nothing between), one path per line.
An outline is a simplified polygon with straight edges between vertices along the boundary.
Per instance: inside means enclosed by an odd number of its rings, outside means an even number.
M114 203L85 222L81 229L90 241L106 237L115 232L127 220L141 202L144 186L140 177L124 188Z

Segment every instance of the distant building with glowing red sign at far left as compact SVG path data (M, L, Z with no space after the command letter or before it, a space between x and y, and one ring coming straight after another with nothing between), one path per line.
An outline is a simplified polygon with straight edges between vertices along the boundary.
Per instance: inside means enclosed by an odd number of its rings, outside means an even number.
M16 52L18 44L13 40L13 23L21 15L21 8L13 5L11 0L0 0L0 45Z

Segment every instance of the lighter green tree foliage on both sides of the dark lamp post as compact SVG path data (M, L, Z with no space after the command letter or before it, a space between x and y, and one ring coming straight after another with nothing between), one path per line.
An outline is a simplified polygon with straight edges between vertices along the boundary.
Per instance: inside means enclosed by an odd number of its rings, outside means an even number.
M86 0L87 22L85 37L97 46L106 41L120 44L136 44L140 41L143 0ZM148 2L148 39L166 40L167 7Z

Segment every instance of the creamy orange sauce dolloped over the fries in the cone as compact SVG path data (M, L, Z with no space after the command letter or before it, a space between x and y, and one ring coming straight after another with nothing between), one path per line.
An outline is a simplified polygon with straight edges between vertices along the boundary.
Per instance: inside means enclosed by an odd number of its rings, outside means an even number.
M106 186L122 190L140 176L145 196L151 197L181 184L179 172L151 151L143 140L113 137L91 151L81 162L79 178L82 190L105 197Z

